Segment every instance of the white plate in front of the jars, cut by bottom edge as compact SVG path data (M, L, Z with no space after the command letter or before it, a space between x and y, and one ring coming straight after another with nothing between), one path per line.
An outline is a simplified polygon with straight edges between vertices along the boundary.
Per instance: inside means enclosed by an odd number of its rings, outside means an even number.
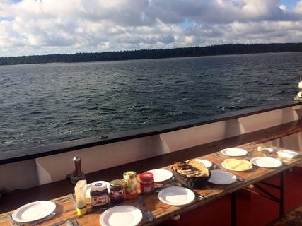
M134 226L141 222L141 210L134 206L115 206L100 215L102 226Z

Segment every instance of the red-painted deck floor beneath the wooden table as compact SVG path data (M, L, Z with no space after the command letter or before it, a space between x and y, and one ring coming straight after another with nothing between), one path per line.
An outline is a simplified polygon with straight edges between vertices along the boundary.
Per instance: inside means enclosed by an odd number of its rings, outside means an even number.
M285 177L285 213L302 203L302 168L294 167L292 172L286 172ZM279 175L271 177L266 182L279 185ZM278 195L279 191L267 188ZM249 191L237 192L237 225L261 226L267 225L279 216L279 204L267 198L252 194ZM168 220L162 226L172 225L231 225L230 196L220 198L205 206L196 208L180 216L180 220ZM301 222L302 225L302 222Z

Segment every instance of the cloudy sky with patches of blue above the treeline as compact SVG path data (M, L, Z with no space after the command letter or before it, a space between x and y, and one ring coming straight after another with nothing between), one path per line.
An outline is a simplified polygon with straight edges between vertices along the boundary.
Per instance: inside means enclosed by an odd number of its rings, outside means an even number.
M302 0L0 0L0 57L302 42Z

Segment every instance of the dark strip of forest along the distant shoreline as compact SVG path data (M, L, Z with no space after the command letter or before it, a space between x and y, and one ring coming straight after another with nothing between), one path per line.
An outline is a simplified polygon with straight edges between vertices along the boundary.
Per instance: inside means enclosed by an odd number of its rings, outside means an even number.
M0 57L0 65L118 61L127 59L156 59L170 57L201 57L269 52L302 52L302 43L222 44L207 47L185 47L175 49L141 49L117 52L80 52L76 54Z

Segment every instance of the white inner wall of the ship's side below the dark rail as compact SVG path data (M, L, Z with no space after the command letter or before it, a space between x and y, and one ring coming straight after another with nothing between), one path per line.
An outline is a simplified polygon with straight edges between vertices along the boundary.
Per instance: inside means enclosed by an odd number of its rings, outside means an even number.
M64 179L73 170L72 159L81 157L82 171L95 172L100 169L123 165L156 155L163 155L191 148L212 141L266 129L301 117L302 105L285 107L247 117L218 121L194 126L155 136L83 148L57 155L39 157L35 160L0 165L0 181L6 181L6 189L24 189L31 186ZM292 150L302 150L301 133L274 141L274 145ZM9 175L8 175L9 174ZM10 178L7 181L7 178ZM102 178L100 178L101 180Z

